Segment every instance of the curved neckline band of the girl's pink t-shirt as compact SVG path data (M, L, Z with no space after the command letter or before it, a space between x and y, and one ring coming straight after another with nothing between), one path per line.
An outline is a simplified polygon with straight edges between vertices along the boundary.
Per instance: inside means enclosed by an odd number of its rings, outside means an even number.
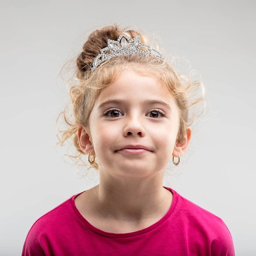
M164 188L168 189L169 191L172 192L173 194L173 198L172 198L172 204L168 210L168 212L166 212L166 214L157 222L155 222L154 224L152 224L151 226L149 227L146 227L142 230L137 230L137 231L134 231L134 232L129 232L129 233L110 233L110 232L106 232L104 230L100 230L98 229L97 227L94 227L92 224L90 224L90 222L88 222L84 217L83 215L81 215L81 213L79 212L79 210L76 208L76 205L75 205L75 198L80 195L81 193L79 194L76 194L76 195L73 195L72 198L71 198L71 205L73 207L73 210L74 212L76 213L76 216L79 218L79 220L82 222L82 224L84 224L86 227L88 227L90 230L92 230L93 232L96 232L96 233L99 233L100 235L102 236L107 236L107 237L113 237L113 238L124 238L124 237L133 237L133 236L138 236L138 235L141 235L141 234L144 234L144 233L147 233L151 230L154 230L155 228L159 227L161 224L163 224L163 222L165 222L171 215L172 215L172 212L174 211L175 209L175 206L177 204L177 199L178 199L178 194L177 192L172 189L172 188L169 188L169 187L166 187L166 186L163 186Z

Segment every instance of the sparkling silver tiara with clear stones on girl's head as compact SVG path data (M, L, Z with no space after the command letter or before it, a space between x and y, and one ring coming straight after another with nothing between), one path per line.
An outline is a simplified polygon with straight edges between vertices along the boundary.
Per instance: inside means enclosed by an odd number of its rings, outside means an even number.
M140 47L145 47L146 50L140 49ZM108 39L108 46L100 50L100 54L96 56L93 61L93 67L91 70L95 70L102 62L122 54L139 53L139 54L149 54L154 55L158 58L164 59L160 52L156 49L151 49L148 44L142 44L140 41L140 36L136 38L129 38L128 35L122 33L117 41Z

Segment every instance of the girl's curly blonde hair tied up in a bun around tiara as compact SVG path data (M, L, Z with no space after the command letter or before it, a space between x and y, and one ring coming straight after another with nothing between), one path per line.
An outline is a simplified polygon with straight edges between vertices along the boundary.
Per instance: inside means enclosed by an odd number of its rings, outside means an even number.
M192 125L194 119L200 116L204 111L203 109L198 116L196 116L195 113L191 117L189 116L189 108L192 107L192 105L198 102L204 102L203 83L198 80L192 81L189 76L180 76L171 64L160 58L145 54L119 55L103 62L91 72L90 68L93 59L100 53L102 48L107 46L108 39L116 40L122 32L125 32L130 38L140 35L143 44L151 45L145 37L138 32L120 29L114 24L92 32L83 45L83 51L76 59L76 81L79 81L79 83L73 84L70 87L74 121L71 122L67 119L66 109L61 111L59 116L63 114L68 128L58 131L58 134L61 133L61 138L59 138L57 134L58 143L61 143L61 146L66 140L73 137L73 145L76 147L76 156L70 157L75 158L75 160L77 160L75 161L76 163L78 163L79 160L84 163L81 159L84 152L81 151L77 136L78 128L81 126L87 127L90 134L89 116L99 93L104 87L111 84L116 79L116 76L126 68L131 68L141 75L154 76L161 81L162 84L167 87L169 93L174 96L180 113L179 131L177 134L178 142L182 142L186 136L187 126ZM195 87L199 87L200 92L197 93L196 99L190 101L189 92L195 89ZM57 121L58 118L56 122ZM98 170L96 160L91 167Z

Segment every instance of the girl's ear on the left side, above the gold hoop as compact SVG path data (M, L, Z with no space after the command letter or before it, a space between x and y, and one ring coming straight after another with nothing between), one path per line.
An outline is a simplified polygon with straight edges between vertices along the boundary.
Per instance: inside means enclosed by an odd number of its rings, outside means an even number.
M90 133L87 131L87 129L83 126L79 127L77 129L77 136L81 151L83 151L85 154L89 154L89 152L91 152L90 155L95 155Z

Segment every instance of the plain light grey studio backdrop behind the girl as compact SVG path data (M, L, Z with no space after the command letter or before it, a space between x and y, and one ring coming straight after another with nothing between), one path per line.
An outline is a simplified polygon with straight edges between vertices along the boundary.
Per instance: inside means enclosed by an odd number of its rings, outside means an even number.
M59 72L113 23L154 32L201 72L208 112L163 185L222 218L236 255L256 255L255 14L253 0L1 1L0 255L20 255L41 215L99 182L64 156L72 145L55 145L69 101Z

